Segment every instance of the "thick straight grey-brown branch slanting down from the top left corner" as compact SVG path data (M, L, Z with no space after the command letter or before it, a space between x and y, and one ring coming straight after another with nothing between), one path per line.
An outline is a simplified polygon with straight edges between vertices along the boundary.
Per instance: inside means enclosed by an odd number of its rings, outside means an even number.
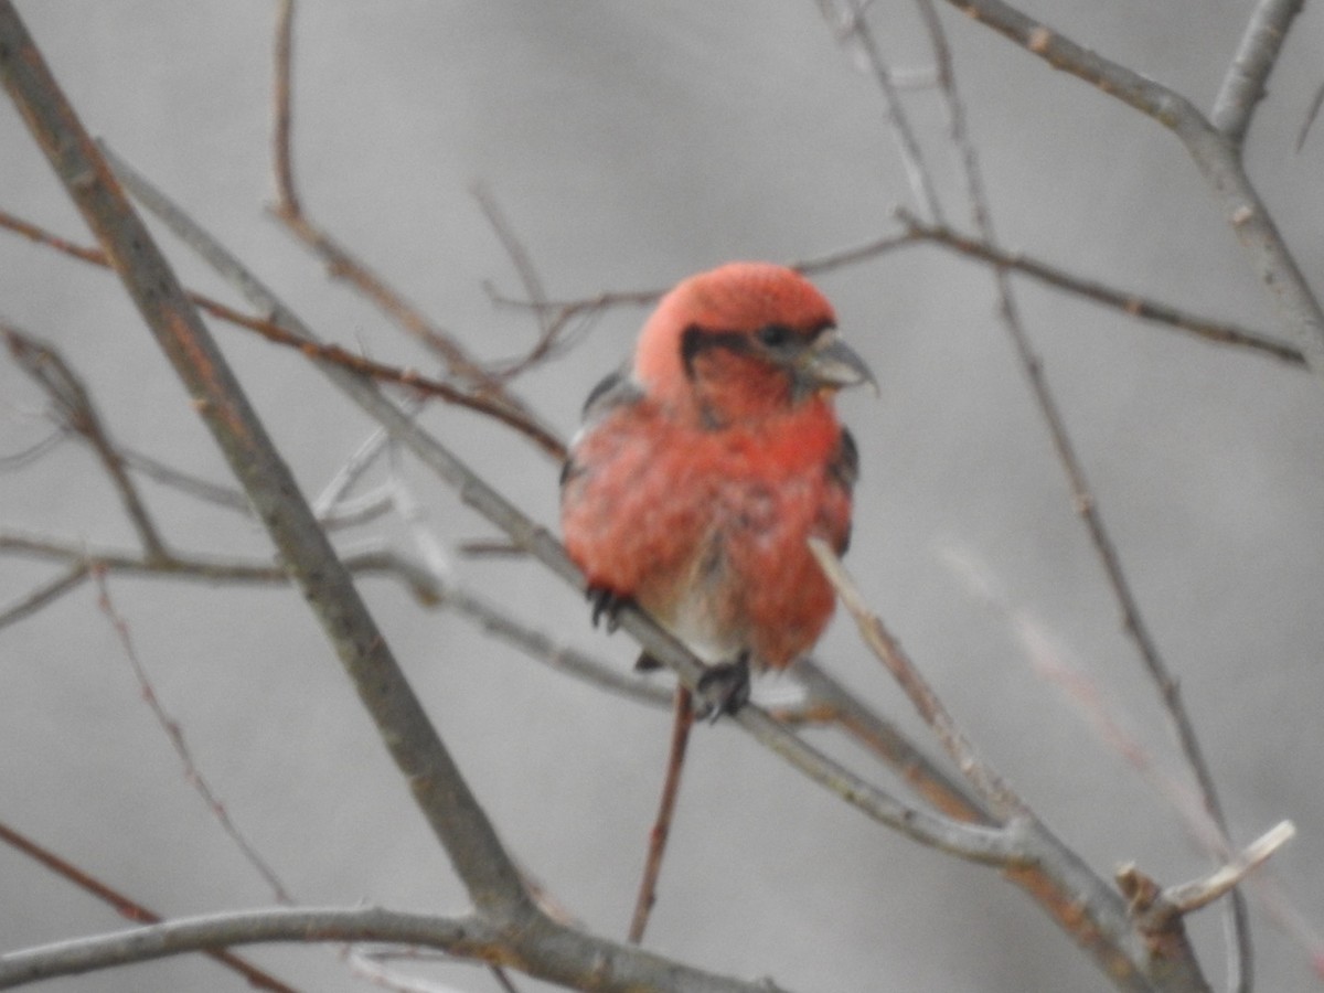
M536 916L289 467L8 0L0 0L0 78L248 491L475 906L507 923Z

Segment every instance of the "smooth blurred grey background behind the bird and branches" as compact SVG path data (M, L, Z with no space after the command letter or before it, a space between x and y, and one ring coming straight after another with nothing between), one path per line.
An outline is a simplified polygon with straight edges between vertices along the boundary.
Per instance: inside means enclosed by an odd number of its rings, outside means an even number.
M1022 4L1076 41L1209 109L1250 13L1230 0ZM430 368L271 220L266 0L20 3L94 134L175 197L326 338ZM1283 335L1177 140L940 11L1005 245L1209 316ZM929 68L912 4L870 7L898 70ZM1247 163L1298 262L1324 263L1324 124L1296 150L1324 82L1324 11L1287 41ZM948 216L968 208L929 90L906 93ZM896 230L915 209L875 82L810 0L767 4L348 3L299 8L295 166L308 213L475 355L522 354L536 328L471 188L519 234L551 297L667 286L731 258L798 261ZM8 101L0 208L77 241L85 228ZM162 241L192 287L234 301ZM1165 883L1205 873L1172 789L1147 780L1094 714L1037 667L974 565L1162 775L1185 782L1152 686L1047 430L997 322L989 273L910 248L817 279L882 400L842 397L863 475L850 565L985 755L1092 866ZM1245 843L1292 818L1274 910L1324 929L1324 392L1296 368L1210 346L1018 281L1043 359L1144 617L1202 736ZM225 467L163 356L106 273L0 234L0 315L56 344L122 445L217 482ZM564 436L629 352L642 310L604 315L519 380ZM371 425L306 361L229 326L226 354L306 493ZM0 455L49 434L44 397L0 361ZM508 432L432 406L424 422L534 518L556 520L553 465ZM405 463L448 548L493 538ZM262 556L257 524L143 483L168 542ZM89 545L134 535L74 442L0 474L0 523ZM399 523L338 539L412 548ZM526 561L451 557L453 577L622 671L625 636L593 633L577 596ZM57 569L0 559L0 604ZM624 936L670 718L556 675L397 584L361 588L511 849L589 927ZM463 892L348 681L293 591L111 577L114 610L199 769L299 900L457 911ZM838 618L820 661L923 730ZM185 782L114 624L85 585L0 630L0 818L163 915L266 906L271 891ZM775 687L776 688L776 687ZM851 757L826 732L812 740ZM935 749L936 751L936 749ZM866 767L867 768L867 767ZM873 772L870 775L874 775ZM5 949L122 925L0 847ZM1320 989L1311 952L1253 902L1259 988ZM1192 928L1222 982L1221 920ZM736 728L691 744L647 944L800 990L1106 990L1083 953L996 874L920 849L816 788ZM364 988L334 951L248 949L303 989ZM471 967L425 970L455 988ZM50 990L236 989L201 957L48 982ZM520 989L542 989L518 978Z

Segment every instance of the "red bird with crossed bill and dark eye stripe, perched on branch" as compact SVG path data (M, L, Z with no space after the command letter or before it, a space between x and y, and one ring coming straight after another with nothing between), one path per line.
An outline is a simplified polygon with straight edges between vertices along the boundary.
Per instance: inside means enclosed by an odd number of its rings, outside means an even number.
M790 665L833 613L806 540L846 551L858 455L831 397L875 384L834 327L831 305L782 266L685 279L629 373L589 395L561 474L561 532L593 621L634 601L733 671L719 712L745 699L749 666Z

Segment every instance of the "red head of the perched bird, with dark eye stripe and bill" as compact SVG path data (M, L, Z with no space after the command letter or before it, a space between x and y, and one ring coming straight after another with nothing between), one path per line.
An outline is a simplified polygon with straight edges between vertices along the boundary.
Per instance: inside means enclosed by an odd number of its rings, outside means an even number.
M767 417L842 387L876 380L837 338L813 283L771 262L691 275L639 335L634 379L657 400L715 424Z

